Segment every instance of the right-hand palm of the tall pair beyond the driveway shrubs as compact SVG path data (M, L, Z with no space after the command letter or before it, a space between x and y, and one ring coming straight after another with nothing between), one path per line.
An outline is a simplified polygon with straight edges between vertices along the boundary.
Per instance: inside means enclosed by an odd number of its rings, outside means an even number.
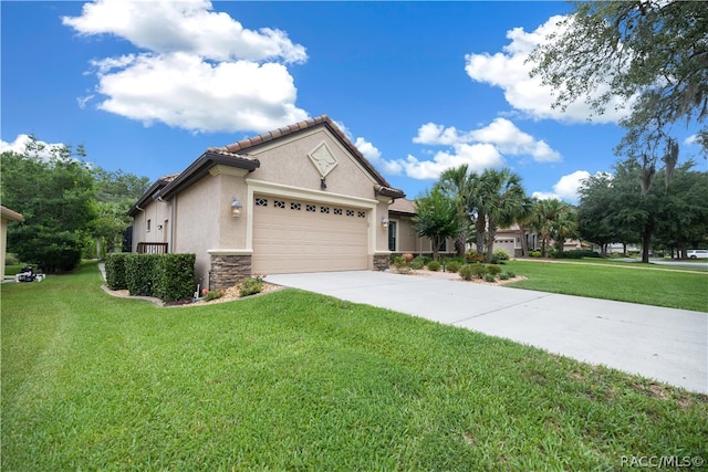
M511 169L487 169L480 176L479 209L487 217L487 262L491 262L498 228L512 225L528 212L521 177Z

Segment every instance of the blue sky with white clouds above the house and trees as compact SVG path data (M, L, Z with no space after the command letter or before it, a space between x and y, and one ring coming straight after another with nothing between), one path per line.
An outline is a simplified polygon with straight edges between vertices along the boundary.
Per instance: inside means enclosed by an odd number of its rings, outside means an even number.
M622 112L552 109L528 52L565 2L0 3L0 148L23 135L155 180L222 146L327 114L393 187L510 167L575 202L610 171ZM699 156L674 129L681 160Z

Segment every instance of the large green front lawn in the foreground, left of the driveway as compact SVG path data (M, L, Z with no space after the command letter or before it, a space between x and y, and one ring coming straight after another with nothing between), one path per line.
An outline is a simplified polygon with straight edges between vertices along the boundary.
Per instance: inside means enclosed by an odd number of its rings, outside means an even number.
M708 459L708 398L285 290L160 308L2 285L2 470L613 470Z

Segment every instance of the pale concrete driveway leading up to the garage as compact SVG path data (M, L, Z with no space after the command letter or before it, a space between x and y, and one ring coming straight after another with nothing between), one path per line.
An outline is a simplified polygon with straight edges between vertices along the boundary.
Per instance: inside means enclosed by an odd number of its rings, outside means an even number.
M708 394L708 314L388 272L269 275Z

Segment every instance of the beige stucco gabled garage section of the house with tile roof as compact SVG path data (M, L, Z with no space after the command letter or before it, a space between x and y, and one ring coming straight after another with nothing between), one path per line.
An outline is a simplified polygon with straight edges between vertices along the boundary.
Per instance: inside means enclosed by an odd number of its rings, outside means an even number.
M197 283L252 273L382 270L404 197L326 116L208 148L131 209L134 252L195 253Z

